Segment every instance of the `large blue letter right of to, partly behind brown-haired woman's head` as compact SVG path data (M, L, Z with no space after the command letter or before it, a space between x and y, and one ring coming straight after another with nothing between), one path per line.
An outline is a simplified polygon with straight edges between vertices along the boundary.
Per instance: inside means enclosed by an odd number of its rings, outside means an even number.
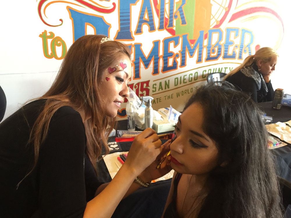
M83 14L72 8L68 8L73 25L73 42L85 35L85 23L92 24L95 27L96 34L109 34L109 25L103 17Z

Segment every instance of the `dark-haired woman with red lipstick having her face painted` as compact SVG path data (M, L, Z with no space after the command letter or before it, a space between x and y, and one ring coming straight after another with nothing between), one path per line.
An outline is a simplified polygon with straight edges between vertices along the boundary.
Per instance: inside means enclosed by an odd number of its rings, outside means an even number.
M175 126L163 217L282 217L260 111L230 83L220 85L200 87Z

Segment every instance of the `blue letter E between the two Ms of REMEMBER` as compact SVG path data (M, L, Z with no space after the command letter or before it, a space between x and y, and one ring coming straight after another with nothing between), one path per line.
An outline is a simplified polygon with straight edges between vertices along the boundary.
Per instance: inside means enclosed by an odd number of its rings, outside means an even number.
M169 51L169 43L174 42L174 47L176 47L177 44L179 43L179 39L180 39L180 36L173 36L173 37L166 38L163 40L163 44L164 44L164 55L163 55L164 65L162 68L163 72L177 69L178 63L176 59L179 57L179 54L175 54L174 52ZM169 66L168 65L169 58L173 57L174 54L175 54L175 57L173 59L173 65Z

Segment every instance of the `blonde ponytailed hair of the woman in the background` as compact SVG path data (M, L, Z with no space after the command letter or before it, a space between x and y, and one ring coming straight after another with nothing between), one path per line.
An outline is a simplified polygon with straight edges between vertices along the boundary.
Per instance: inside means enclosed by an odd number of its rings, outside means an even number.
M225 80L228 76L235 74L243 67L250 66L253 63L257 63L258 60L262 60L263 62L269 62L273 57L278 57L278 54L274 49L270 47L260 48L258 49L258 51L255 52L254 55L247 56L246 59L244 59L244 62L232 71L230 71L226 76L224 76L223 80Z

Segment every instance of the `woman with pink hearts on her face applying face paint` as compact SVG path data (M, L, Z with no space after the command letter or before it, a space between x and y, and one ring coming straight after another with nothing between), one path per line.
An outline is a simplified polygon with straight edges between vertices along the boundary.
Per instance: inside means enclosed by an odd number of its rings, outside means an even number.
M140 187L137 176L144 183L154 179L144 170L162 147L146 129L113 180L97 180L96 161L131 76L123 43L86 35L72 44L52 87L0 124L1 217L111 217Z

